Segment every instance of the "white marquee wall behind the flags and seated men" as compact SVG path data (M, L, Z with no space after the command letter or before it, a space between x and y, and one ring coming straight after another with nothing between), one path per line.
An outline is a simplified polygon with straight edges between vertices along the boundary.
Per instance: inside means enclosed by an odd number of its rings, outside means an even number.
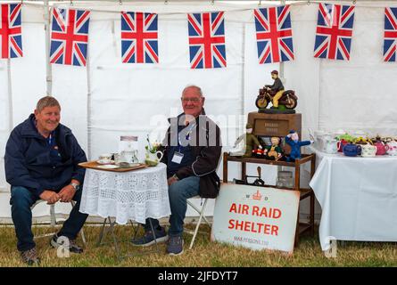
M139 136L143 158L146 134L161 140L166 118L181 111L180 93L189 84L203 88L204 107L221 126L223 151L227 151L244 132L247 114L256 110L258 89L272 83L272 69L282 71L285 86L299 97L303 139L308 139L309 128L397 135L397 63L384 62L382 54L385 7L397 6L397 1L354 1L350 61L314 58L318 3L287 1L295 60L281 66L258 62L253 9L259 2L24 1L24 55L0 60L0 222L11 222L5 143L12 128L29 116L46 93L61 102L62 123L73 130L88 159L117 151L122 134ZM280 1L261 1L260 6L277 4ZM91 11L86 68L46 63L48 7L70 5ZM120 11L159 14L158 64L121 63ZM186 12L209 11L225 11L227 68L190 69ZM230 167L229 179L239 177L239 168ZM255 168L252 165L247 171L255 173ZM274 167L263 167L264 180L271 183L276 172ZM69 213L69 205L58 204L58 213ZM35 210L36 216L49 212L45 205Z

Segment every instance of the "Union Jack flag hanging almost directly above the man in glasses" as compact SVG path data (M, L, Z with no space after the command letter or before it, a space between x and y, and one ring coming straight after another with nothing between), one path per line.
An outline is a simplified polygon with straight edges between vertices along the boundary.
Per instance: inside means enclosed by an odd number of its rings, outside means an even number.
M224 12L187 14L191 69L226 67Z

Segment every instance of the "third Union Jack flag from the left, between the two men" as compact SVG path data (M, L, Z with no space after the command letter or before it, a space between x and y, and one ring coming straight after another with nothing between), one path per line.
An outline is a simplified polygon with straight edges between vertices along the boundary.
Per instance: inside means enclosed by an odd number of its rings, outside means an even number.
M159 62L157 31L157 14L121 12L123 63Z

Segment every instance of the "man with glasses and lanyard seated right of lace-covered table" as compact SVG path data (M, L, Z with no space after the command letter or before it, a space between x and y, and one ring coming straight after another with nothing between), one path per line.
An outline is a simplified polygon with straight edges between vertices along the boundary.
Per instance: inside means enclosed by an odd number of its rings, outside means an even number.
M171 208L168 236L158 220L147 219L145 235L133 240L135 245L148 246L155 241L169 240L167 252L170 255L182 254L186 199L197 195L202 198L218 196L219 177L216 170L221 154L220 130L205 115L204 101L201 88L188 85L181 97L184 112L178 118L170 118L170 128L162 143L165 149L161 162L167 164Z

